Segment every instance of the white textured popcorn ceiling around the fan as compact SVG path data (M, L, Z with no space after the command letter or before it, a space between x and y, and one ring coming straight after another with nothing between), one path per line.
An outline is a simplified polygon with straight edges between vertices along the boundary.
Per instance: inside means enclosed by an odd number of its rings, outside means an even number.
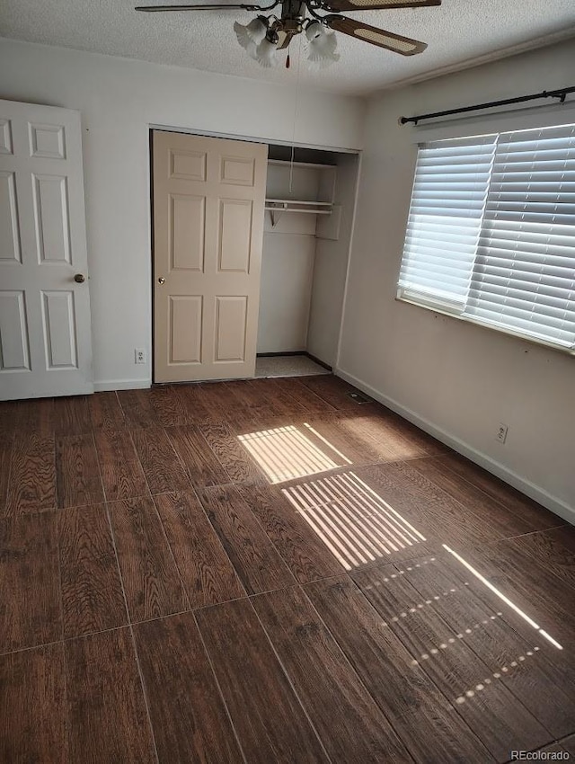
M146 2L162 0L2 0L0 36L272 82L296 81L293 54L300 40L304 45L304 35L292 43L290 70L265 69L240 48L233 30L234 21L247 23L254 13L134 11L135 4ZM173 2L177 0L166 0ZM473 60L499 58L515 49L575 36L575 0L443 0L440 7L349 15L424 40L429 48L406 58L338 34L339 63L313 72L302 59L302 84L363 95L465 67Z

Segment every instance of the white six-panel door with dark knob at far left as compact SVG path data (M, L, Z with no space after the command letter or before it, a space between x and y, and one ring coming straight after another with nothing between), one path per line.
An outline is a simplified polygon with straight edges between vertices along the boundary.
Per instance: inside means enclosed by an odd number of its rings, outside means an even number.
M0 101L0 400L92 392L80 114Z

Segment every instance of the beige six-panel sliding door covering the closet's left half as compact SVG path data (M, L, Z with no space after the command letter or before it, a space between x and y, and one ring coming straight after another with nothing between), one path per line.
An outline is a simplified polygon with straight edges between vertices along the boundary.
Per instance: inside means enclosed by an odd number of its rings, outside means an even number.
M154 132L155 382L255 372L267 156Z

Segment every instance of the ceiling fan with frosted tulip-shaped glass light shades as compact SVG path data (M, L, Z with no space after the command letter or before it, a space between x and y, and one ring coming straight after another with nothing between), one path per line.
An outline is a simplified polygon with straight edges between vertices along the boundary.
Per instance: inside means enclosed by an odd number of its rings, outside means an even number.
M441 0L275 0L270 5L248 4L196 4L196 5L139 5L137 11L158 13L164 11L218 11L241 9L258 13L252 22L234 23L238 42L264 67L275 64L277 50L288 49L293 38L305 31L308 40L308 60L319 67L329 66L340 57L335 52L333 31L369 42L379 48L393 50L402 56L413 56L427 48L425 42L411 40L391 31L378 29L364 22L342 16L342 11L377 11L388 8L419 8L440 5ZM281 5L280 15L270 13ZM318 12L327 13L323 15ZM289 67L289 56L286 62Z

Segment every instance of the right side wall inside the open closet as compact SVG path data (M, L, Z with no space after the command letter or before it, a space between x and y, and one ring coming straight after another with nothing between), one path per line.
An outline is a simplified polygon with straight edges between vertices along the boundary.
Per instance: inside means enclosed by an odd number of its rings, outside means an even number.
M358 155L340 155L334 197L335 204L341 206L340 233L336 241L317 239L307 333L307 351L332 367L340 337L357 184ZM320 222L318 235L321 230Z

